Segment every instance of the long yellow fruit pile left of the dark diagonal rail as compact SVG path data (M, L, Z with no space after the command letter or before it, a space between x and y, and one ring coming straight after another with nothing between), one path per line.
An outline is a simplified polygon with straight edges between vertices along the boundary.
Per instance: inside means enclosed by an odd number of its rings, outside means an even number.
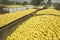
M25 15L28 15L34 11L36 11L36 10L35 9L27 9L27 10L23 10L23 11L2 14L2 15L0 15L0 28L4 25L7 25L8 23L10 23L14 20L17 20Z

